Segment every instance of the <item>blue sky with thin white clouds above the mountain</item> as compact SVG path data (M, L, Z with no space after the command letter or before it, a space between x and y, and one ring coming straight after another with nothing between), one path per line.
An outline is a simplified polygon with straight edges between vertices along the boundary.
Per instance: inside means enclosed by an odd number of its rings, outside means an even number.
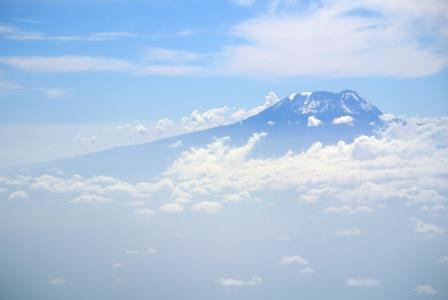
M0 124L153 124L343 89L384 112L443 116L445 12L439 0L2 1Z

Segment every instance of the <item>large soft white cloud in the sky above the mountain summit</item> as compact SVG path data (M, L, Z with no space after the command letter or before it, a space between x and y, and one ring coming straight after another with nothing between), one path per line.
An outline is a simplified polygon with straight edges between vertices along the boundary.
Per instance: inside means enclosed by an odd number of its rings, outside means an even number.
M440 51L447 48L446 1L289 2L287 9L271 5L268 12L234 26L232 35L242 42L223 51L226 72L415 77L448 64Z

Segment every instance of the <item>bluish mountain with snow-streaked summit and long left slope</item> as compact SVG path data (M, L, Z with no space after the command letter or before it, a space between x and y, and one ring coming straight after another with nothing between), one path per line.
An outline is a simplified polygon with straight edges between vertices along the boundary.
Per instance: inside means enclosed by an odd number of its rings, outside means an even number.
M190 147L205 146L214 138L228 136L232 146L242 145L255 132L267 136L253 155L282 155L302 151L314 142L323 144L351 141L359 135L372 135L383 125L382 112L370 101L351 90L339 93L318 91L294 93L260 113L240 122L170 137L155 142L113 148L75 158L27 166L31 173L64 171L88 175L110 175L127 180L160 174ZM181 147L170 147L176 141Z

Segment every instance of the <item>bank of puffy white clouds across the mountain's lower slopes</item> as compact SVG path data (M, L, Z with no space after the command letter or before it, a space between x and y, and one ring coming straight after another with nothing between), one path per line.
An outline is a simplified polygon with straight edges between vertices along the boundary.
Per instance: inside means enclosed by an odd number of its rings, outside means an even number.
M157 197L169 191L171 199L160 211L177 213L188 207L216 213L252 194L287 189L296 190L299 203L312 204L331 196L332 203L322 211L329 215L375 213L381 205L397 200L417 207L444 205L448 139L442 133L446 130L446 118L409 119L406 124L391 123L377 137L361 136L352 143L327 146L315 143L304 152L268 158L251 155L260 140L269 138L265 133L255 133L241 147L231 147L226 138L219 138L206 147L182 152L156 181L41 175L33 178L30 191L78 193L74 203L106 202L117 194ZM219 202L208 200L211 196ZM417 234L445 232L417 218L411 221Z

